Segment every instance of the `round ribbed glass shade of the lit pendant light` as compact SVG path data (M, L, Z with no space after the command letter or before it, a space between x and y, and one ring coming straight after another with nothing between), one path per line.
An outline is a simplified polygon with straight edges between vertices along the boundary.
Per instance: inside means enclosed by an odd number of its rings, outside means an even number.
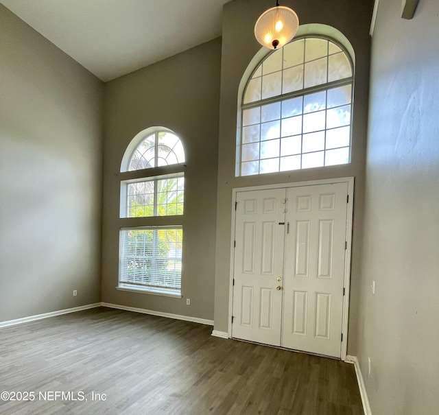
M294 38L298 28L296 12L284 5L276 5L261 14L254 25L254 36L261 45L278 49Z

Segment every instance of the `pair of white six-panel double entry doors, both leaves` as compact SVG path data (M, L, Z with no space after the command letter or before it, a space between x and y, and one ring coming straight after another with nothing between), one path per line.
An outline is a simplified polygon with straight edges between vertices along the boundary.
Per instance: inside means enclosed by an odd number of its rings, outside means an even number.
M346 182L237 193L232 336L341 354Z

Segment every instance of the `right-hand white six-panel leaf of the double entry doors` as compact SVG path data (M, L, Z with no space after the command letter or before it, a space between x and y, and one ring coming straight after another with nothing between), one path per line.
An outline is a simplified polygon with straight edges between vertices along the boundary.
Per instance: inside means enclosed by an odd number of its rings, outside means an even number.
M282 346L340 357L347 191L287 189Z

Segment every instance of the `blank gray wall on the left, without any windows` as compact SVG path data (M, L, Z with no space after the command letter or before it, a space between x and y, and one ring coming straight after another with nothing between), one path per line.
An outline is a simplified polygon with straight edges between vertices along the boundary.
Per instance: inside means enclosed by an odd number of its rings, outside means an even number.
M103 84L0 5L0 91L0 321L96 303Z

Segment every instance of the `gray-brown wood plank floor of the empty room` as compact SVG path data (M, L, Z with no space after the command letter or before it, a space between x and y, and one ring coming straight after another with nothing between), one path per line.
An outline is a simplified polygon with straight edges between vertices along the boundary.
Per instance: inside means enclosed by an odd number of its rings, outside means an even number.
M363 414L353 365L211 331L104 307L5 327L0 392L36 399L0 414ZM52 391L88 400L38 399Z

